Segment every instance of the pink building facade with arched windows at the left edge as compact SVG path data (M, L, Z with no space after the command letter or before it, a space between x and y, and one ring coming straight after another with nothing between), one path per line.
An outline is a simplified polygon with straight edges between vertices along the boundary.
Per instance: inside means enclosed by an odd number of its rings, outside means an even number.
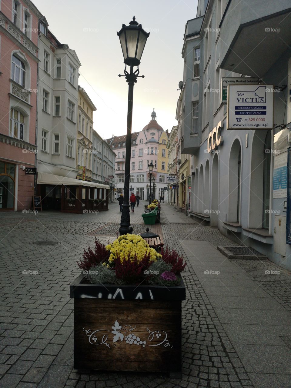
M35 190L38 28L30 1L0 3L0 211L31 208Z

